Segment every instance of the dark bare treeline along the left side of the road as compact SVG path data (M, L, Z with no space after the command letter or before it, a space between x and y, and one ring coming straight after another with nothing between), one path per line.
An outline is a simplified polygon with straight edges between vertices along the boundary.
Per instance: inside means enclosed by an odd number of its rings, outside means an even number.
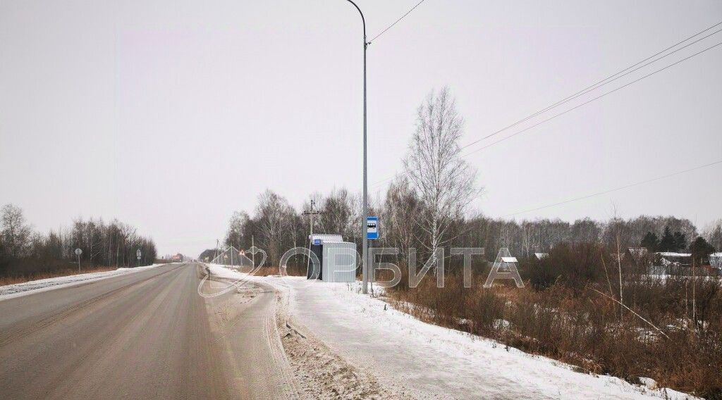
M79 218L69 228L43 234L32 230L21 208L8 204L0 210L0 228L0 276L77 267L75 249L82 250L84 268L151 265L157 256L152 239L117 220L105 223L103 219Z

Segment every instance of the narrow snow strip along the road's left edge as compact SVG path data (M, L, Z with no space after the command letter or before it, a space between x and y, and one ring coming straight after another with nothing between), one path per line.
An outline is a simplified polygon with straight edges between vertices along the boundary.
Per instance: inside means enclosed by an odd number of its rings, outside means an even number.
M67 275L61 277L49 277L47 279L30 280L23 283L14 283L12 285L0 286L0 300L6 300L8 298L15 298L21 295L27 295L30 293L38 293L43 290L50 290L56 288L66 288L68 286L77 285L90 280L100 280L106 277L113 277L116 275L123 275L131 272L140 272L149 270L165 264L153 264L146 267L134 267L134 268L118 268L114 271L105 272L90 272L87 274Z

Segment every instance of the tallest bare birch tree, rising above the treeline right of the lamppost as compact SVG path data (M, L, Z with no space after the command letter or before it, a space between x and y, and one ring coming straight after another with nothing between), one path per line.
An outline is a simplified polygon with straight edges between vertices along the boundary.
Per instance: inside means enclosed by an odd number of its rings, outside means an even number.
M463 218L480 192L476 169L459 158L463 126L448 89L431 92L417 110L416 132L404 159L406 176L424 206L417 218L425 236L422 246L434 262L434 249L450 239L451 224Z

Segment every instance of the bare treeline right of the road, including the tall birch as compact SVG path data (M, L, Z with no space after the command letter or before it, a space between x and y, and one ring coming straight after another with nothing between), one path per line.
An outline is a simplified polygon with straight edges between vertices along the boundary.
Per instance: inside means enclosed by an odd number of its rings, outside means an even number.
M558 219L508 221L477 213L469 205L482 188L476 182L477 170L461 157L463 128L464 119L448 89L430 92L417 109L416 127L401 160L403 172L381 193L382 200L370 204L369 215L380 218L380 239L371 246L398 248L403 264L412 248L427 259L438 247L484 247L487 259L494 259L502 247L516 257L530 257L534 252L549 252L557 244L576 243L601 244L619 253L627 246L640 246L648 234L651 239L664 237L665 229L674 232L674 249L687 249L699 236L691 221L674 217L584 218L570 223ZM312 210L312 205L317 208ZM258 197L255 210L232 216L225 243L248 249L253 237L256 245L268 252L270 265L277 265L282 251L308 244L311 216L304 212L317 210L314 232L341 234L360 246L361 205L360 195L339 189L328 195L313 193L297 209L282 195L266 190ZM705 236L721 249L722 221L711 226Z

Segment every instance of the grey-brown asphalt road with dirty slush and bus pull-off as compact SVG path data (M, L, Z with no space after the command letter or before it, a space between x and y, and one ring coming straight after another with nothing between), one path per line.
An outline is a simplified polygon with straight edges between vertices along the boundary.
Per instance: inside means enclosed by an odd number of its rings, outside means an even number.
M204 298L204 271L167 265L0 301L0 397L296 397L274 293Z

